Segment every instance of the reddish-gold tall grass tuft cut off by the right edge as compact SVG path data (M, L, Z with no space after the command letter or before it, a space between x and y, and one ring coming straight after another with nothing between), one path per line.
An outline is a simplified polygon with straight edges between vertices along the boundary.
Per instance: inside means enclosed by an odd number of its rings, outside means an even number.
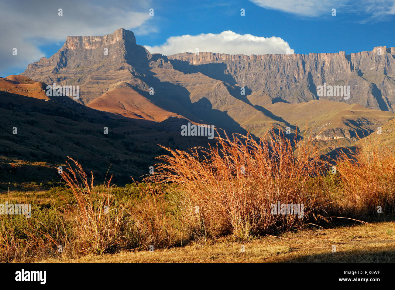
M341 186L334 210L344 217L382 219L395 209L395 156L370 138L359 142L355 152L342 151L337 159Z

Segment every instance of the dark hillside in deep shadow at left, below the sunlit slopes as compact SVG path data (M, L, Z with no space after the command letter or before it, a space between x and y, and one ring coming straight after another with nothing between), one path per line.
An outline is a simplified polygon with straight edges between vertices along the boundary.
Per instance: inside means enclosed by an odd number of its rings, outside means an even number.
M85 164L98 178L109 169L119 184L149 173L155 157L164 153L157 144L186 149L207 146L207 137L182 137L177 131L147 129L128 118L90 109L68 97L44 101L0 91L0 172L3 190L9 183L51 181L67 156ZM17 134L13 134L14 127ZM104 134L104 127L108 134ZM191 146L192 144L192 146ZM47 163L44 167L38 163ZM36 165L33 165L36 164ZM15 166L13 170L9 167ZM19 174L37 168L34 174ZM30 171L29 171L30 172ZM42 176L40 172L46 172Z

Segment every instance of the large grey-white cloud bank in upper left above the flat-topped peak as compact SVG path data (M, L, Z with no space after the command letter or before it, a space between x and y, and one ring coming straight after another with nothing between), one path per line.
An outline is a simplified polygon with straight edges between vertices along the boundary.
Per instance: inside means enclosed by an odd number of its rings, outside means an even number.
M79 0L43 0L40 4L25 0L2 2L0 8L0 76L10 68L23 71L27 64L38 61L44 53L40 46L62 44L66 36L102 36L118 28L139 28L142 32L149 20L150 2L144 0L111 0L85 2ZM63 16L58 16L58 9ZM151 30L154 28L150 28ZM17 56L12 49L17 48Z

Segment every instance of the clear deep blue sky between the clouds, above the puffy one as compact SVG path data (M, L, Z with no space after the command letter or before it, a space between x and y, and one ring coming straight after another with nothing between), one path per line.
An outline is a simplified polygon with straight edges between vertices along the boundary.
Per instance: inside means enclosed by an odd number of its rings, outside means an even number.
M154 16L152 22L160 32L137 35L137 42L153 46L164 43L169 36L231 30L238 34L281 37L295 53L302 54L339 51L349 54L376 46L395 47L395 15L385 21L383 17L369 20L367 13L338 8L336 16L329 9L327 15L307 17L265 9L250 1L227 1L227 5L218 6L211 6L210 2L192 1L185 6L180 1L168 1L156 7L158 18ZM244 17L240 16L241 8L245 9Z

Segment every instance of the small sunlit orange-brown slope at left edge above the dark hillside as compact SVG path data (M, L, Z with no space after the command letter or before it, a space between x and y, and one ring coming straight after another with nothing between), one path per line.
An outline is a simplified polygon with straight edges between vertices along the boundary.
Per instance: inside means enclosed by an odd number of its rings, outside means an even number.
M48 100L49 97L45 94L46 87L47 85L43 82L35 82L21 75L9 75L6 78L0 77L0 91L3 92Z

